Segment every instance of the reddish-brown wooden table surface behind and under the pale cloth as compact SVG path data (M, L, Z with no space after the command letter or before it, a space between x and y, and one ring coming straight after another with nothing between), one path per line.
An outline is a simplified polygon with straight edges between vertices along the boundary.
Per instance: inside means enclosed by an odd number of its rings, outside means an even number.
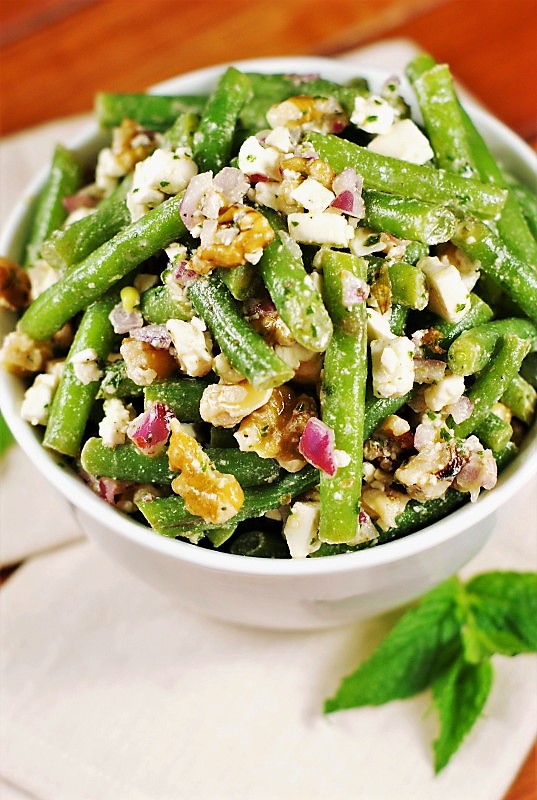
M3 135L87 111L99 89L405 37L537 145L537 0L3 0L0 14ZM536 797L534 750L506 800Z

